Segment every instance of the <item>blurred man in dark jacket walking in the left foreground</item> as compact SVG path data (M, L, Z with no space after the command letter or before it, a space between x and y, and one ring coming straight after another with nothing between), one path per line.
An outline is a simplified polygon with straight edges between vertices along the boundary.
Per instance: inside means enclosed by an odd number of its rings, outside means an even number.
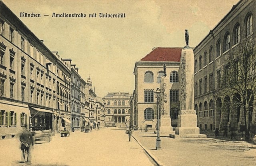
M27 165L31 164L32 158L32 148L34 145L34 138L32 133L27 130L27 126L25 125L24 131L20 135L20 142L21 146L20 149L22 150L22 161L21 163L26 162ZM27 158L26 158L27 156Z

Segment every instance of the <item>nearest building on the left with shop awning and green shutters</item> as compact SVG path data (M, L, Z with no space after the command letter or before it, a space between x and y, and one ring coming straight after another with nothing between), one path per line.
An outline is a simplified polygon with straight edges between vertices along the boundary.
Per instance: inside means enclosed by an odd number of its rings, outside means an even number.
M58 58L0 1L0 136L56 130Z

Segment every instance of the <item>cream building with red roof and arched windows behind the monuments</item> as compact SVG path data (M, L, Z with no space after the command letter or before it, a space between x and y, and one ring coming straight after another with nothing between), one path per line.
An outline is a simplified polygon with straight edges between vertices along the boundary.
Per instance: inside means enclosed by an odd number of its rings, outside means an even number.
M157 106L154 92L160 88L161 77L166 74L170 82L166 85L170 99L170 116L173 127L177 126L180 110L180 56L182 48L153 48L152 52L136 62L134 67L135 91L133 94L134 125L140 129L156 128Z

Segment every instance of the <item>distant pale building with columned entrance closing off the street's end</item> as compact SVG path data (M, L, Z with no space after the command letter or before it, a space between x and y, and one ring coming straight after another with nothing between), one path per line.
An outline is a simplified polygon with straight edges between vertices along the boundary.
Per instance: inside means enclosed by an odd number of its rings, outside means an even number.
M104 96L106 126L130 126L130 97L127 92L113 92Z

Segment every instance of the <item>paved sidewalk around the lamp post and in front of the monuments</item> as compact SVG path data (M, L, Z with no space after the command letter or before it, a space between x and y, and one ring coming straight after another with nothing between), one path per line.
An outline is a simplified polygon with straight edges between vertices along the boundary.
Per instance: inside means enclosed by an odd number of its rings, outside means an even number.
M156 150L156 134L134 131L133 137L161 166L256 165L256 145L244 141L160 137L162 150Z

